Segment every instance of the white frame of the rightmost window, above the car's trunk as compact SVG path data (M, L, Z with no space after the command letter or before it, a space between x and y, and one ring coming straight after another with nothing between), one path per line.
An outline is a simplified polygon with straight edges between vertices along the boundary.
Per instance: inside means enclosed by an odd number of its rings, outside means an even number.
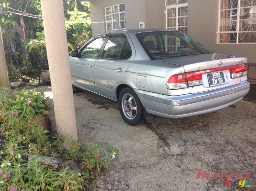
M236 14L236 31L232 32L232 31L220 31L220 8L221 8L221 0L218 0L218 30L216 32L216 43L217 44L256 44L256 42L239 42L239 33L241 33L241 31L239 31L240 28L240 2L241 0L237 0L237 14ZM244 31L243 31L244 32ZM255 32L256 31L249 31L249 32ZM225 34L225 33L236 33L236 42L220 42L220 34Z

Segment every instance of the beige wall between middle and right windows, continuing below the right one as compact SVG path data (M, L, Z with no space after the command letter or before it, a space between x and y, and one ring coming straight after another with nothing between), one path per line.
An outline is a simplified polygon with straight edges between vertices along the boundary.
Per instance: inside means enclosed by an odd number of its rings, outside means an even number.
M188 34L216 53L247 57L256 63L256 44L217 44L218 0L188 0Z

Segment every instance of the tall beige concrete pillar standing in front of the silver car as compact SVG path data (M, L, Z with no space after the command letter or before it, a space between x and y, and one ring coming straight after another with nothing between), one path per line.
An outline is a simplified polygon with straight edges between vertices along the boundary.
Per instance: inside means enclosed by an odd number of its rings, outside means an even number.
M41 0L58 134L77 140L68 42L62 0Z

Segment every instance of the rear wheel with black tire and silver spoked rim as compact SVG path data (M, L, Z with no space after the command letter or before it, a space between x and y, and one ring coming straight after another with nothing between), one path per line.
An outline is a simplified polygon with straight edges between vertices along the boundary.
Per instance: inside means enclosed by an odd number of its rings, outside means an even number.
M118 107L122 118L129 125L138 125L144 119L144 108L131 88L124 88L120 92Z

